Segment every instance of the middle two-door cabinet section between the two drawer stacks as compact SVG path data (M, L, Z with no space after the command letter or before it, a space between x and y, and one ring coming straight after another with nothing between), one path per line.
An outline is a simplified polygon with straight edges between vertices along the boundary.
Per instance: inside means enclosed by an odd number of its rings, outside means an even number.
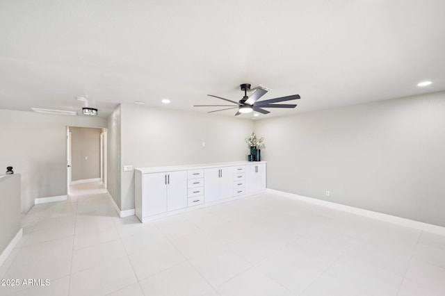
M233 167L215 167L204 170L204 201L216 202L232 197Z

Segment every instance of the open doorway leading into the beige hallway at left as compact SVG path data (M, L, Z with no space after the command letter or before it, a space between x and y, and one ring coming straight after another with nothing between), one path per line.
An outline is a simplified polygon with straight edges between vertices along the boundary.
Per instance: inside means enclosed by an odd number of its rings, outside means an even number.
M67 126L67 194L107 192L107 130Z

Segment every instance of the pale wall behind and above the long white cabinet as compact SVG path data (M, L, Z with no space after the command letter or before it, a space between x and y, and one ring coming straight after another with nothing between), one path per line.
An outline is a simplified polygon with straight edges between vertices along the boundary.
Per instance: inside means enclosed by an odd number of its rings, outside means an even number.
M122 104L123 165L150 167L244 161L252 120ZM202 147L206 142L206 147ZM122 210L134 208L133 172L122 172Z

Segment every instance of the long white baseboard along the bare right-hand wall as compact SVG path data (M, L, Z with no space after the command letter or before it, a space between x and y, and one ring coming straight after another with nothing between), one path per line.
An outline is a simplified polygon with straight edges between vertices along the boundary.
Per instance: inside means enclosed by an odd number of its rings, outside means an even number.
M445 227L441 227L441 226L434 225L434 224L428 224L428 223L414 221L414 220L397 217L397 216L393 216L393 215L388 215L388 214L384 214L384 213L368 211L368 210L364 210L362 208L355 208L353 206L345 206L343 204L336 204L334 202L327 202L322 199L305 197L303 195L296 195L293 193L284 192L284 191L275 190L275 189L267 188L266 192L273 193L276 195L281 195L284 197L289 197L291 199L297 199L300 202L309 202L311 204L318 204L319 206L326 206L328 208L334 208L339 211L345 211L348 213L353 213L355 215L361 215L364 217L373 218L375 220L398 224L398 225L401 225L404 227L411 227L411 228L415 228L415 229L419 229L419 230L423 230L423 231L437 233L441 236L445 236Z

